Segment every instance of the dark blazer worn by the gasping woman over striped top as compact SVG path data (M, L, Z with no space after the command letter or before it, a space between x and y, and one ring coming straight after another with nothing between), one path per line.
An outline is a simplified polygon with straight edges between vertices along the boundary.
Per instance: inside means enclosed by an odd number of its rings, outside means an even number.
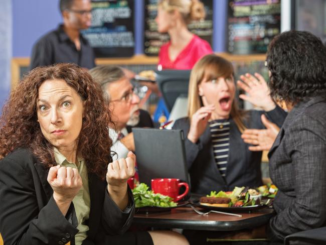
M260 119L262 113L258 110L248 111L247 119L244 121L245 126L248 129L263 129L264 126ZM286 112L280 107L276 107L267 112L267 116L281 126ZM249 145L241 139L241 133L232 118L230 119L230 148L226 179L220 174L214 159L209 125L197 144L187 138L190 129L188 117L177 120L173 128L182 129L185 134L192 192L206 195L213 190L231 191L235 186L257 187L262 185L260 170L262 153L248 150Z

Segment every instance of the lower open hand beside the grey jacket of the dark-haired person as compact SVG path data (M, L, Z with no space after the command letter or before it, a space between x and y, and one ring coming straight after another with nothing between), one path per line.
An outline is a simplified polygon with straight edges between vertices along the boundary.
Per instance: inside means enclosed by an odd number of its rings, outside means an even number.
M269 151L279 132L276 124L269 121L264 114L261 115L261 121L266 129L248 129L241 135L245 143L254 145L249 147L250 151Z

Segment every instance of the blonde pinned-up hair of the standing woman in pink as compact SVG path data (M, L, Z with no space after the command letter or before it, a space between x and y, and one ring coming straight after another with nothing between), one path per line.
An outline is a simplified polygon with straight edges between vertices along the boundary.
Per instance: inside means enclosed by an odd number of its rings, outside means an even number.
M199 0L160 0L158 6L167 12L178 10L186 23L206 17L204 4Z

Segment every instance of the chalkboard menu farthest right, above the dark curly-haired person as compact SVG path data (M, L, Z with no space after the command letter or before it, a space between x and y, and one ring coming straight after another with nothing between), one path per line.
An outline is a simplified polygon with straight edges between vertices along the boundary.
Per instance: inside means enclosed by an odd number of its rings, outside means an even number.
M232 54L266 53L281 29L281 0L228 2L228 51Z

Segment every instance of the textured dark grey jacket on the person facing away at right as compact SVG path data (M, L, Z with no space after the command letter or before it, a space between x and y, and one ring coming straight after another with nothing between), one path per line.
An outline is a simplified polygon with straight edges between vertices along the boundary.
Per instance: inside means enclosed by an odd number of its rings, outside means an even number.
M267 227L271 240L326 225L325 111L322 97L295 105L269 151L269 173L278 187L277 215Z

